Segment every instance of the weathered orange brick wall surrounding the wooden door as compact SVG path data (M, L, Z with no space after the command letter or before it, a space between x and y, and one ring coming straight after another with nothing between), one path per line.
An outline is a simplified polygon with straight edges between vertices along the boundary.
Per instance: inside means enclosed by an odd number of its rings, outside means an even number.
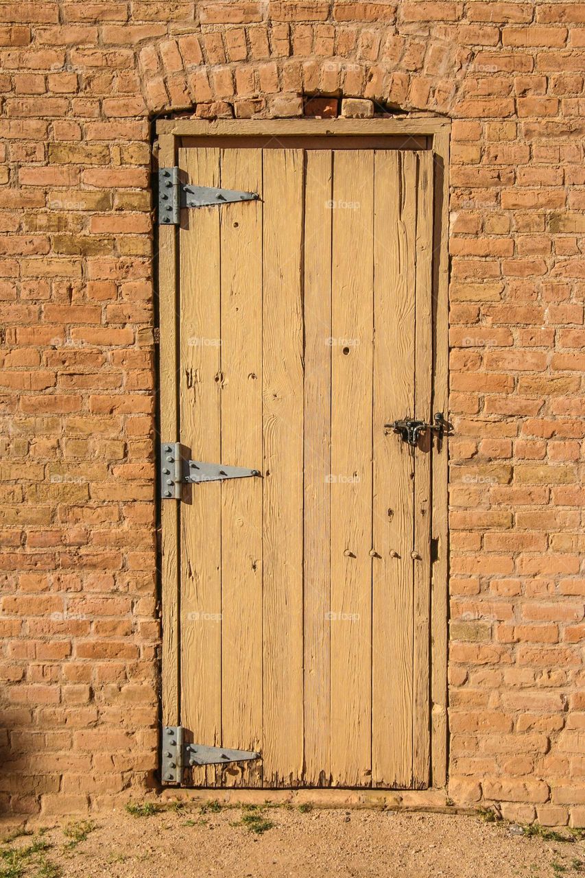
M563 2L1 0L4 807L154 782L150 122L322 92L453 119L450 795L585 824L584 25Z

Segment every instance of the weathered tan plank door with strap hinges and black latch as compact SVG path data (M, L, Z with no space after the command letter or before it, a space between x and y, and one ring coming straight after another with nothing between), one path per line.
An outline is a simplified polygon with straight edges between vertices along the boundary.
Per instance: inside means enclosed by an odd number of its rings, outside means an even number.
M201 786L430 781L429 151L181 148L178 420L261 478L178 512L180 723L261 752Z

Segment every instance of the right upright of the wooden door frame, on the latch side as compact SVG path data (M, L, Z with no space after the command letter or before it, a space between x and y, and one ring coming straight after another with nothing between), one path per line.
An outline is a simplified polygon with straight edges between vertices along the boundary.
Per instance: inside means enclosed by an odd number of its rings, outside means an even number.
M448 417L449 379L449 132L433 139L435 179L435 258L433 261L434 380L433 412ZM448 440L435 443L432 460L432 536L436 557L431 565L431 782L441 787L447 780L447 615L448 615Z

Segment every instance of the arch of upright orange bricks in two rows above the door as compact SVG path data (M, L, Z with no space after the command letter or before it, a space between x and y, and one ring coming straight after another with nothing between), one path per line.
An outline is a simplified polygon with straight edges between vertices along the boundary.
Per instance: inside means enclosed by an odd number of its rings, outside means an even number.
M192 25L191 25L192 26ZM323 25L324 26L324 25ZM282 28L286 27L284 34ZM135 48L143 104L133 98L134 112L150 116L192 112L206 117L270 118L302 114L300 97L335 95L365 97L375 112L400 108L406 112L456 115L459 87L465 79L473 50L446 36L400 35L379 27L370 32L377 60L356 60L356 47L326 57L318 31L304 25L305 52L288 25L264 25L263 38L245 26L223 29L225 46L210 37L217 32L164 34ZM230 34L233 43L230 44ZM238 54L236 40L241 40ZM360 51L365 53L364 32ZM343 51L336 34L336 51ZM334 47L333 40L331 47ZM232 52L233 60L226 57ZM256 56L256 57L255 57ZM104 102L106 114L127 115L125 98Z

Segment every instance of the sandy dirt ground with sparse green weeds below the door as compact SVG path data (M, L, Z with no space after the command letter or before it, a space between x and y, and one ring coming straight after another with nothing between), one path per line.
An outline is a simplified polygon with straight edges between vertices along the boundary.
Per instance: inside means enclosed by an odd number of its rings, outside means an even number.
M585 875L585 834L568 829L529 835L503 821L404 811L154 808L4 832L0 878Z

